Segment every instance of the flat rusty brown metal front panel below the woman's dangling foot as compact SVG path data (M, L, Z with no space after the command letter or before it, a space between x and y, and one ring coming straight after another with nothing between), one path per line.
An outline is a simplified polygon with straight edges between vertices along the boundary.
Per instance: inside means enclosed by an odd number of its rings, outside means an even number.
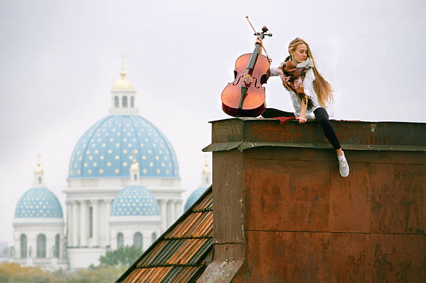
M359 153L242 153L242 282L426 282L425 153Z

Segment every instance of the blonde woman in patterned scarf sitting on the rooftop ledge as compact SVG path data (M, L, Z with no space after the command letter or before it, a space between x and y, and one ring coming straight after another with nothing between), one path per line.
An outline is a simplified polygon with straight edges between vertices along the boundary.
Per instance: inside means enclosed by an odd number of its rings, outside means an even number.
M261 40L257 42L262 44ZM317 71L308 43L301 38L296 38L288 46L288 52L290 56L284 63L281 63L278 68L271 68L271 76L281 77L283 86L290 93L295 110L294 115L299 123L305 123L308 117L310 120L315 119L321 125L324 135L338 155L340 176L347 177L349 165L325 109L327 104L333 102L333 89ZM271 112L279 112L279 110L271 109L262 116L271 118L271 114L274 114ZM281 116L285 116L285 112L282 113Z

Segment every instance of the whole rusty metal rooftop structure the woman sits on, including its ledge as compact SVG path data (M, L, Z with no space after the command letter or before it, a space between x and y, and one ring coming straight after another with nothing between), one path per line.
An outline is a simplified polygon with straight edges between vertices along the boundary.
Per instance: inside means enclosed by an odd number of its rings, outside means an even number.
M348 178L313 123L213 123L214 261L244 260L217 282L426 282L425 125L334 126Z

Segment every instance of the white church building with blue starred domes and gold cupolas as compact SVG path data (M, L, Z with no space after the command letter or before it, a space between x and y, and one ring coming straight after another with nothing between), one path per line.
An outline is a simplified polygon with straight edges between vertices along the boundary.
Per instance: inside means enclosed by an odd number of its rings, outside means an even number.
M39 164L13 220L13 261L45 269L97 265L107 250L146 250L182 214L178 160L166 136L138 115L136 91L124 70L113 84L109 115L72 151L66 221L46 188ZM210 182L203 170L203 188Z

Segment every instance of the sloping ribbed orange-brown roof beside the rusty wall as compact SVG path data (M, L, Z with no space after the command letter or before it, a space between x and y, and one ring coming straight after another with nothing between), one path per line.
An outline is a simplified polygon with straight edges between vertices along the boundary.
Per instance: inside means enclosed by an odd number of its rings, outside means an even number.
M116 282L189 282L213 248L212 186Z

